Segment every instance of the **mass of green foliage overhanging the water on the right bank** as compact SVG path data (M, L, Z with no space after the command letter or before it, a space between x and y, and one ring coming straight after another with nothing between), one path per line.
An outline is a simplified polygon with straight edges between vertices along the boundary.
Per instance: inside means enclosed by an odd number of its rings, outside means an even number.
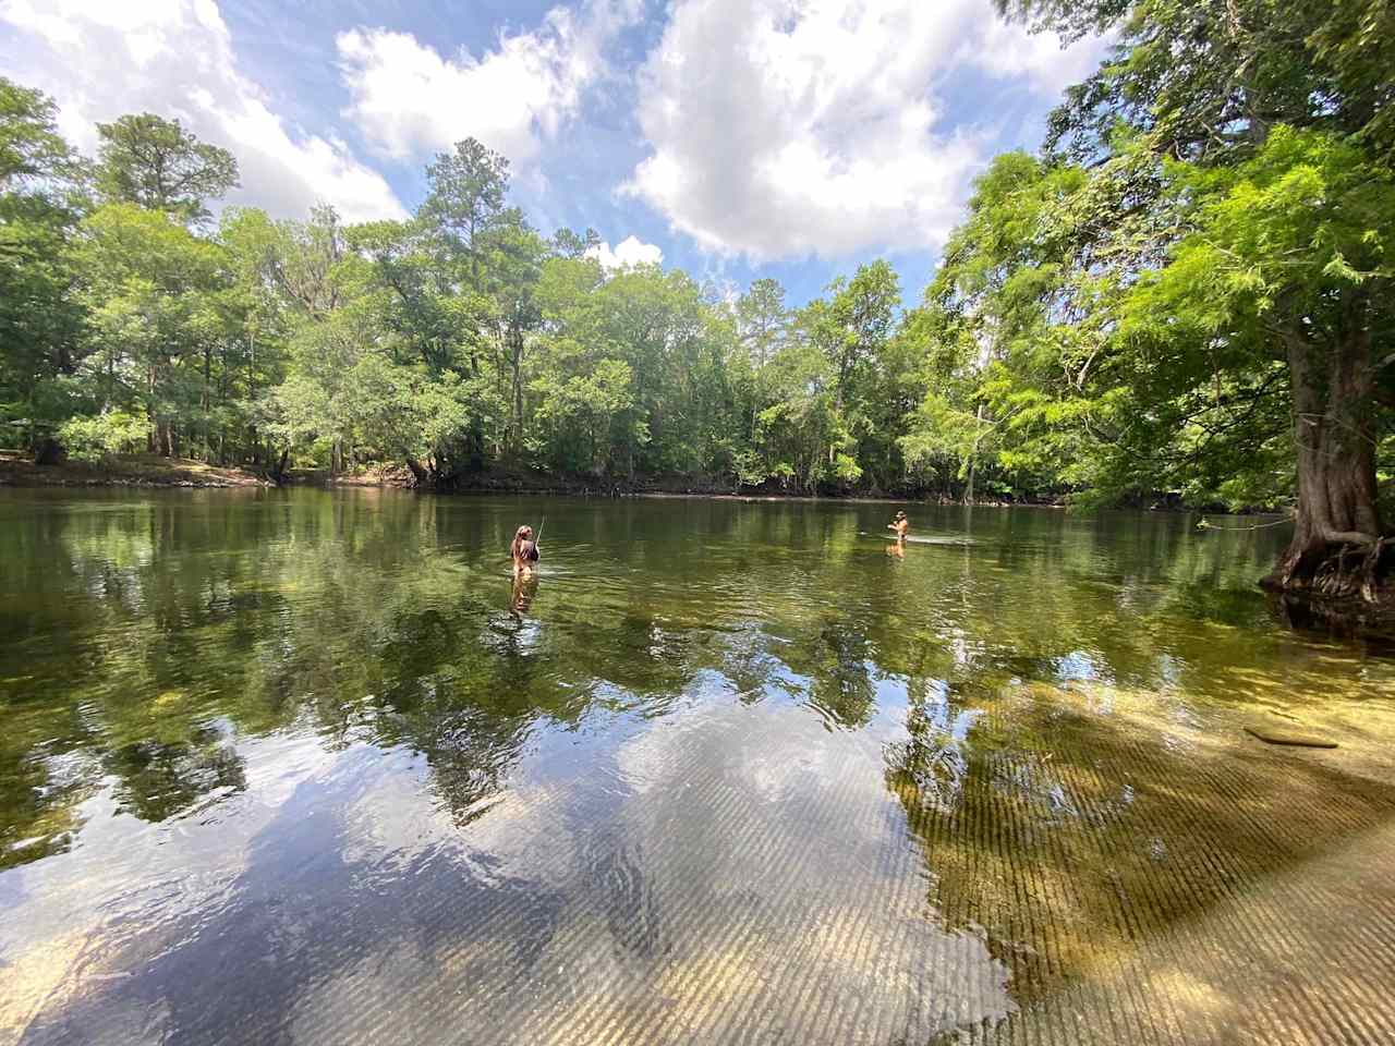
M1377 531L1389 4L999 7L1116 39L1052 117L1062 152L981 180L932 289L988 347L1000 460L1094 501L1297 495L1300 544Z

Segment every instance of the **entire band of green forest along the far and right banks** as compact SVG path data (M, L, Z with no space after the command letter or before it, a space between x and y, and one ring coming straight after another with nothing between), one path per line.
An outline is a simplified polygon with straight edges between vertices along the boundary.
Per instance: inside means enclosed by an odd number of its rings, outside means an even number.
M1395 7L996 0L1106 33L975 183L922 300L798 305L531 227L466 138L402 222L220 206L237 158L0 81L0 444L280 480L370 466L626 490L1292 512L1283 589L1378 597L1395 409Z

